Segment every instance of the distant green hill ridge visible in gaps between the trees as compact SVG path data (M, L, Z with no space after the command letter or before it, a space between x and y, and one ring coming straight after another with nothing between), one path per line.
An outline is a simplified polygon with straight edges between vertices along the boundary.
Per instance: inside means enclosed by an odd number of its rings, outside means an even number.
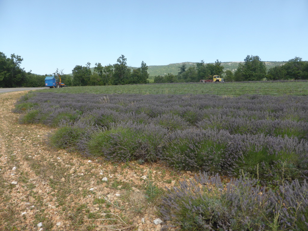
M239 63L244 63L244 62L224 62L221 63L221 65L224 67L224 71L230 70L230 71L235 71L238 67ZM266 68L270 69L275 66L281 66L285 64L286 62L265 62ZM186 65L186 69L191 66L196 66L197 63L192 63L192 62L183 62L183 63L171 63L168 65L161 65L161 66L148 66L148 72L150 74L149 79L153 79L154 76L156 75L167 75L168 73L177 75L179 72L179 67L182 66L183 64ZM137 68L137 67L132 67L132 68ZM94 67L91 67L91 71L94 71ZM72 74L69 74L72 75Z

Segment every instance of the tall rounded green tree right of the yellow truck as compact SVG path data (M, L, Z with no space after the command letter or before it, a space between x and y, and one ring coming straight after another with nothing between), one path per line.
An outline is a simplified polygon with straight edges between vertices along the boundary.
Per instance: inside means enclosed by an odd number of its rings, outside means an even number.
M244 61L245 63L240 63L234 73L236 81L260 81L265 78L265 63L261 61L259 56L247 55Z

